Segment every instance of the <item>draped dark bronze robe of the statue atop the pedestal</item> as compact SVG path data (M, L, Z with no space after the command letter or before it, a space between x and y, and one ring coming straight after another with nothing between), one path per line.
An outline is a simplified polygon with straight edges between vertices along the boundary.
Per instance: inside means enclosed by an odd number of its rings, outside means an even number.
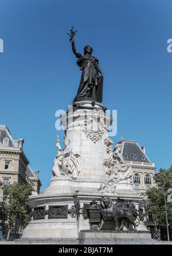
M97 67L99 60L88 55L79 55L77 64L82 70L81 81L77 91L76 98L94 98L96 101L102 101L103 77L99 77Z

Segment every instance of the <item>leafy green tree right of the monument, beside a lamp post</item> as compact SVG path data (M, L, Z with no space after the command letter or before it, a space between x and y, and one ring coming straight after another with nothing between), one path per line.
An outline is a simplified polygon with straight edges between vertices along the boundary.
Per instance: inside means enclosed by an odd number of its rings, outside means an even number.
M147 211L153 213L157 226L166 226L165 197L167 216L172 226L172 202L167 200L167 190L172 188L172 166L169 169L160 169L154 177L155 187L147 191ZM165 194L164 194L165 189Z

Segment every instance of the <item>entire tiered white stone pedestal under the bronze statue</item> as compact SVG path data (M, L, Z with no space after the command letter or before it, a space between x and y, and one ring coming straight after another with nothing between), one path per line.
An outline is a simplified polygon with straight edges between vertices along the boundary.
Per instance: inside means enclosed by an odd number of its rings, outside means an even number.
M67 146L61 150L57 139L58 154L50 186L40 196L29 198L32 221L25 228L23 239L79 238L81 230L90 228L85 209L92 200L100 202L104 194L114 202L118 197L130 200L138 209L142 197L132 189L131 182L120 181L111 190L100 189L109 178L104 160L111 121L104 106L91 100L75 102L61 117ZM64 161L61 154L65 154Z

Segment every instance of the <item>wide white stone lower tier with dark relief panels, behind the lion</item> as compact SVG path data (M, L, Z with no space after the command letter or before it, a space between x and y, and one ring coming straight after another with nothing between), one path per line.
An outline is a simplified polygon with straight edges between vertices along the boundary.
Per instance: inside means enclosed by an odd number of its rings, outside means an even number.
M134 204L138 204L138 201L142 198L138 193L127 193L128 190L118 190L116 196L112 196L114 202L117 201L117 198L124 198L125 200L132 200ZM80 205L80 216L79 220L76 219L76 215L72 217L72 214L69 212L70 209L75 205L74 196L75 193L68 194L51 194L44 193L39 196L33 196L29 198L30 205L33 207L33 215L36 209L41 208L43 211L42 216L33 216L32 221L29 222L28 226L24 229L22 238L24 239L77 239L79 238L79 232L81 230L89 230L89 219L85 219L83 211L86 211L84 208L85 205L93 200L100 202L102 194L100 192L87 192L87 193L78 193L77 200ZM61 216L52 216L50 215L50 207L62 207L66 210L62 210ZM60 213L58 213L60 214ZM114 224L114 223L113 223ZM106 225L106 224L105 224ZM112 226L112 225L111 225ZM104 226L105 228L105 226ZM113 228L113 227L108 227Z

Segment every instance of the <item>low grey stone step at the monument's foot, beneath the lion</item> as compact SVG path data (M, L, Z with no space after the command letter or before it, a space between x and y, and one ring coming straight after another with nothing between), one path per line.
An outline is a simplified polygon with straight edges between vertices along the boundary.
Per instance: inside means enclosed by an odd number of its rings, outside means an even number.
M79 238L22 238L21 244L157 244L150 231L81 230Z

